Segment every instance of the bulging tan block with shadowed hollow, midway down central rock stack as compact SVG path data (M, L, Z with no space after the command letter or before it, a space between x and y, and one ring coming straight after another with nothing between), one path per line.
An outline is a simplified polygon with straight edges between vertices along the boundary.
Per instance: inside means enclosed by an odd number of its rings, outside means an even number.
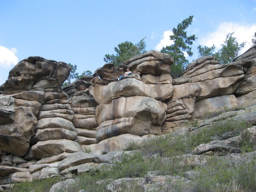
M113 99L96 108L96 138L103 140L119 134L160 134L166 119L166 104L150 97L133 96Z

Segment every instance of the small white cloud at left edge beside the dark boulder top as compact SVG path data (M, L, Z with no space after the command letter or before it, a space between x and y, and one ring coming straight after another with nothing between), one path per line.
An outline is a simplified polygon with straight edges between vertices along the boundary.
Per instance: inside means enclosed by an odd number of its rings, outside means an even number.
M17 49L15 48L8 49L6 47L0 46L0 67L7 69L17 64L18 58L15 55L16 52Z

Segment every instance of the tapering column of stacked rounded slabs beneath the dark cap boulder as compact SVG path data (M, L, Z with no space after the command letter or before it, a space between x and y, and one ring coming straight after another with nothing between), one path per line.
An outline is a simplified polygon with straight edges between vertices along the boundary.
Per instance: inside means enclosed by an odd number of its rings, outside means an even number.
M35 136L31 140L33 157L41 159L63 152L81 151L72 120L71 100L61 88L45 90Z

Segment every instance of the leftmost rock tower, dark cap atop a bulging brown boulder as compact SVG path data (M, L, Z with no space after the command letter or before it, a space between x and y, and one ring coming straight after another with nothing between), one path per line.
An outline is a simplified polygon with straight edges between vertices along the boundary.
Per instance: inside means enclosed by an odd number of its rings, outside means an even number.
M66 63L41 57L26 58L10 71L0 87L1 151L19 156L27 153L44 102L44 90L61 86L69 73Z

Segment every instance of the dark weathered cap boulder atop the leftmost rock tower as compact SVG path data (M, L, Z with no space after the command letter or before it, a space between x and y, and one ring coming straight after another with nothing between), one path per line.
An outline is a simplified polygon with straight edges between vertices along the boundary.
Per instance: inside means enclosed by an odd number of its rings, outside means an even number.
M16 64L9 72L8 80L0 87L0 91L12 94L37 87L59 87L69 76L70 70L64 62L29 57Z

